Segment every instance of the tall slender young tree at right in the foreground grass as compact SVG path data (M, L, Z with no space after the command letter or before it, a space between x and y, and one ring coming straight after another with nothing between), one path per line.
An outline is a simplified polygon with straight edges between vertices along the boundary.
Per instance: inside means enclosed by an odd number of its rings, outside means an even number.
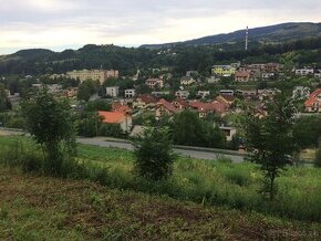
M265 175L263 191L273 200L275 180L290 164L289 156L296 150L292 137L294 108L292 99L283 93L267 103L267 108L268 116L263 118L248 114L245 129L250 160L260 165Z

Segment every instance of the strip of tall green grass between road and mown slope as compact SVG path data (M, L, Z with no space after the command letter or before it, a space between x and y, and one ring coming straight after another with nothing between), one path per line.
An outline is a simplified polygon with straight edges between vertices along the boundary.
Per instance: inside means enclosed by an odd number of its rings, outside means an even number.
M0 161L41 171L43 155L29 142L10 145L0 138ZM4 146L6 146L4 145ZM128 189L189 200L205 206L227 206L241 210L255 210L282 217L321 221L321 170L307 167L289 167L277 179L276 201L260 195L262 175L258 166L227 160L198 160L179 158L174 174L166 180L148 181L133 172L133 154L121 149L79 146L79 157L66 163L64 177L89 179L117 189ZM25 165L28 164L28 165ZM34 166L32 166L34 165ZM29 168L25 168L29 167ZM35 168L34 168L35 167Z

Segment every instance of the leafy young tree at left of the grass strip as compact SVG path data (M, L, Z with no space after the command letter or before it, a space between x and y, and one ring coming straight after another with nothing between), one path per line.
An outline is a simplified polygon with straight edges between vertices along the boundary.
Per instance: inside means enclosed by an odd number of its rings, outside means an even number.
M45 171L59 176L64 154L75 154L73 118L65 99L42 90L22 103L25 127L46 155ZM68 151L65 151L68 150Z

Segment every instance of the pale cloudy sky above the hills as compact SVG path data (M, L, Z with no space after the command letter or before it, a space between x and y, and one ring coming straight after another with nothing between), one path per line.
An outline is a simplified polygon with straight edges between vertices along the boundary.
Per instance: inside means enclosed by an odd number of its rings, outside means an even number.
M0 0L0 54L138 46L282 22L321 22L320 0Z

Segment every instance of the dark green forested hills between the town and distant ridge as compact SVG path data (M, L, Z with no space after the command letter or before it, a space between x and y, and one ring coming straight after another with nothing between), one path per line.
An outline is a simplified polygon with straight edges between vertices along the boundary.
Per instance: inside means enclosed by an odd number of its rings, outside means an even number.
M115 69L121 75L134 75L137 70L169 69L182 75L195 70L209 75L213 64L236 61L244 63L281 62L288 59L298 66L321 66L321 36L287 41L279 44L251 42L248 51L235 44L176 45L170 49L124 48L87 44L79 50L52 52L50 50L22 50L0 56L0 75L42 75L65 73L82 69Z

